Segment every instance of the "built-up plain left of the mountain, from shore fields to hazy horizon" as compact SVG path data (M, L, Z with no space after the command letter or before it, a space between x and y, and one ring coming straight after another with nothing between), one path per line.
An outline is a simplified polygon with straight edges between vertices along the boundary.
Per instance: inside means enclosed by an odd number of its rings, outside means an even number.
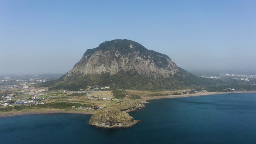
M93 85L80 91L48 90L35 88L36 84L55 80L63 74L16 74L0 77L0 108L7 106L30 106L53 102L73 102L81 104L96 104L100 108L114 99L109 86ZM108 102L107 102L108 101ZM93 108L76 108L89 110Z

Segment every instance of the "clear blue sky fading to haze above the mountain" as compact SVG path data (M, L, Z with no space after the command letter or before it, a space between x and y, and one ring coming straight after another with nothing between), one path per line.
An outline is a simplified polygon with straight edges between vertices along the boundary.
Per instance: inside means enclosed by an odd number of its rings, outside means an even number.
M105 40L191 68L256 68L256 0L0 0L0 74L68 72Z

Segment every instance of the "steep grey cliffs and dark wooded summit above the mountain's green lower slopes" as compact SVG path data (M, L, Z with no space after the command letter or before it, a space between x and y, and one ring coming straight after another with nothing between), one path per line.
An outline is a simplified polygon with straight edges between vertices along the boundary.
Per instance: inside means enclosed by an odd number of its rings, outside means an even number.
M164 76L175 74L178 66L172 60L158 52L147 50L131 40L105 41L98 48L85 52L67 77L73 74L116 74L119 71L134 70L144 76Z

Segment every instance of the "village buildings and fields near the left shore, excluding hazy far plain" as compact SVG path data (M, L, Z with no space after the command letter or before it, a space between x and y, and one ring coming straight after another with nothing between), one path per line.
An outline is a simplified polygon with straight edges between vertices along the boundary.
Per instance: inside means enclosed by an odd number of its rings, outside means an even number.
M22 84L19 84L22 85ZM4 90L2 90L3 92ZM67 90L48 90L47 88L33 88L22 86L16 89L9 89L5 92L11 94L2 94L0 97L0 108L17 105L37 105L53 102L69 102L81 104L93 104L93 107L78 107L77 110L98 110L102 106L113 101L113 95L109 86L101 87L93 85L88 90L67 91Z

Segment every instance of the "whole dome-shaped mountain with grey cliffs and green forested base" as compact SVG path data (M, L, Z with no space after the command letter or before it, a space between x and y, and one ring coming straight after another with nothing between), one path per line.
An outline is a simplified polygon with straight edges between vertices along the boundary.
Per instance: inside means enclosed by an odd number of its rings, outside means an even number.
M51 83L56 89L84 89L98 84L124 89L181 89L205 79L178 67L165 54L132 40L105 41L88 49L67 74Z

